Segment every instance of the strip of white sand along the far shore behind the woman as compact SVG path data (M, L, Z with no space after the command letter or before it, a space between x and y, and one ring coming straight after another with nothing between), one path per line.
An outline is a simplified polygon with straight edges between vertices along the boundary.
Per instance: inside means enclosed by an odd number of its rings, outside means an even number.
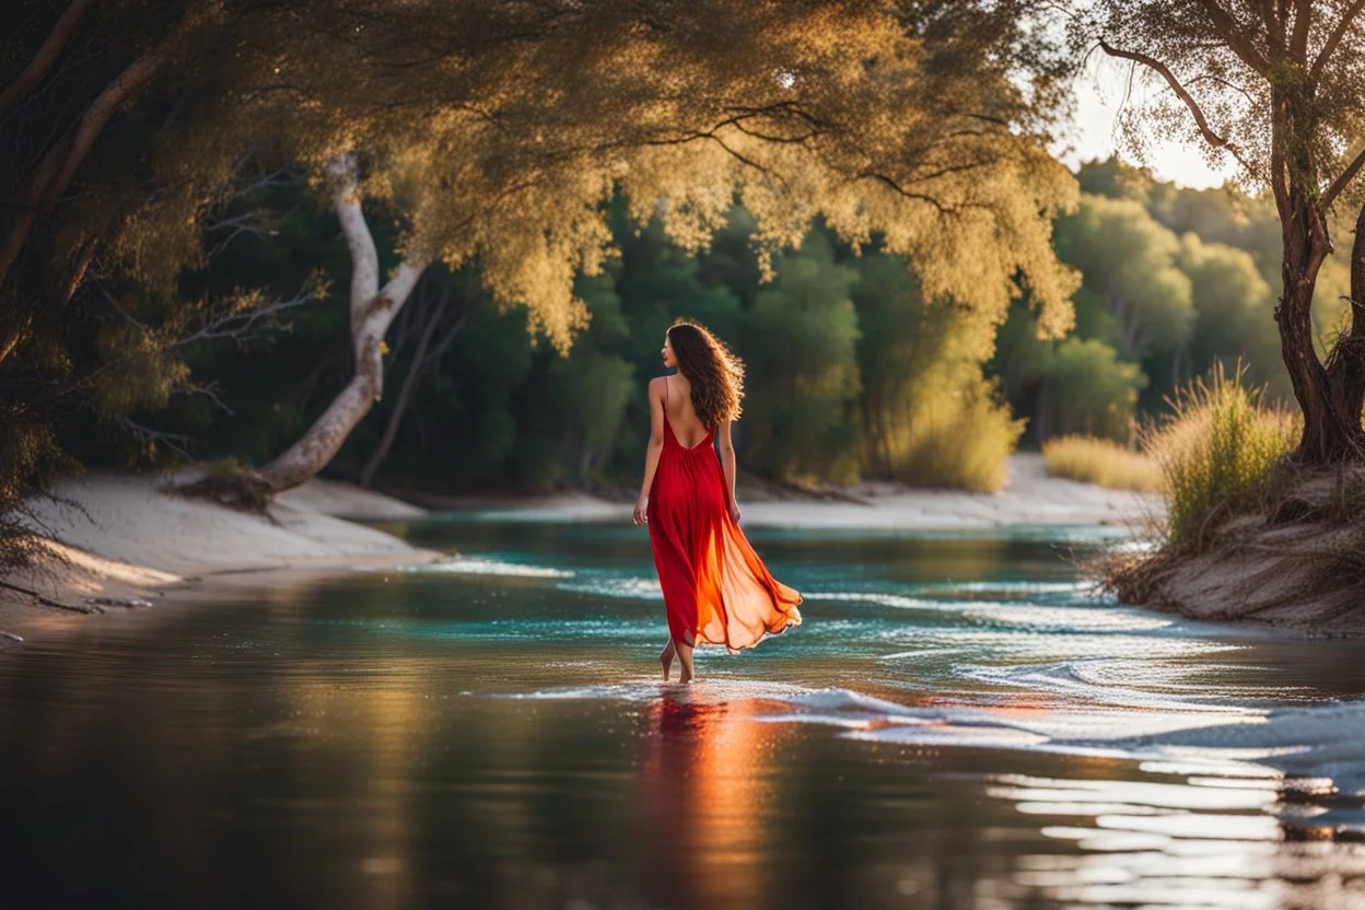
M1127 525L1158 514L1162 508L1152 495L1050 478L1043 456L1029 453L1010 457L1009 480L999 493L865 483L850 488L842 501L745 502L743 487L738 498L745 527L777 528L973 531L1022 525ZM631 503L586 494L524 501L471 498L450 505L527 521L628 521L631 514Z

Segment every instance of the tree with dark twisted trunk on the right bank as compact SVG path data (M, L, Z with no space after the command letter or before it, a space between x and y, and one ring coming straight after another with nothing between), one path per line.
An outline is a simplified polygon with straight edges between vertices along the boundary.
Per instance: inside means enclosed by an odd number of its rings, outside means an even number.
M1280 353L1304 412L1295 457L1305 464L1365 458L1365 25L1362 0L1097 0L1073 19L1080 48L1097 44L1170 89L1129 112L1138 138L1200 142L1267 188L1280 225ZM1314 349L1313 296L1332 251L1332 214L1355 226L1350 325Z

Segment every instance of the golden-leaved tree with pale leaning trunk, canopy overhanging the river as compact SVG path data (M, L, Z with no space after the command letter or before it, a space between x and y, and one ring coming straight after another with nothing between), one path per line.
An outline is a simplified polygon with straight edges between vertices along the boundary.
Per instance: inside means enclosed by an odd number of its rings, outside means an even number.
M984 323L1024 285L1046 329L1070 319L1050 214L1073 181L1046 146L1065 67L1029 27L1033 0L68 8L25 4L42 25L5 33L14 194L31 205L0 239L4 349L87 289L97 255L160 288L202 271L205 214L244 164L299 168L352 250L356 368L265 467L272 490L321 469L370 411L386 326L426 262L478 262L495 304L566 352L588 321L575 282L613 252L614 192L689 251L741 199L768 271L824 213L853 243L885 233ZM76 50L100 65L61 65ZM392 274L362 202L401 221Z

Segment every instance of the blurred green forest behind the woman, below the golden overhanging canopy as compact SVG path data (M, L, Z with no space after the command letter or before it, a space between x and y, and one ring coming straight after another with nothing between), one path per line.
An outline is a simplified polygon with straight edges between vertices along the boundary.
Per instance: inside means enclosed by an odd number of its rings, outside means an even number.
M389 332L389 392L329 473L435 493L629 487L648 435L644 387L662 372L676 319L707 325L748 363L737 445L748 469L786 483L994 488L1016 447L1065 434L1130 442L1137 422L1218 362L1241 362L1244 382L1290 400L1272 318L1274 207L1117 160L1076 177L1080 205L1054 226L1058 256L1082 276L1076 326L1061 340L1039 338L1020 299L983 347L951 299L923 297L902 258L875 244L854 254L820 226L764 282L740 206L702 254L657 222L636 231L613 217L620 256L577 278L591 323L566 356L528 334L524 310L493 302L476 265L431 269ZM269 236L239 239L216 263L218 280L291 288L325 262L344 288L336 218L292 186L270 190L270 209ZM1347 265L1328 261L1314 304L1324 345L1345 318L1347 282ZM348 337L337 296L278 314L250 344L197 342L186 362L216 378L212 394L154 407L130 396L126 413L109 402L116 419L71 422L64 445L104 467L259 464L348 382Z

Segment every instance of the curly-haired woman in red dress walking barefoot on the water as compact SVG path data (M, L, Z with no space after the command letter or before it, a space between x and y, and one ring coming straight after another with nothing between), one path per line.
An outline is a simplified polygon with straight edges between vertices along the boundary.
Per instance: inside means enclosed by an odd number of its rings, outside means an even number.
M691 682L698 641L752 648L766 633L800 625L801 595L773 578L738 525L730 422L740 416L744 364L689 322L667 330L662 353L677 374L650 381L650 446L633 520L650 525L667 610L663 681L677 654L681 681Z

